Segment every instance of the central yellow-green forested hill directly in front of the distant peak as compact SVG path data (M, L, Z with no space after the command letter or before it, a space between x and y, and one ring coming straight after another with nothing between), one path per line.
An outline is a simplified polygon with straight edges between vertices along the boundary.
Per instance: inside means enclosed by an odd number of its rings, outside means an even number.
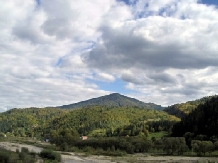
M128 125L143 124L146 126L147 122L165 120L179 121L180 119L166 112L153 109L89 106L72 110L63 117L54 119L49 128L58 130L74 127L81 135L94 136L100 134L105 136L107 130L114 132L118 128L123 130Z

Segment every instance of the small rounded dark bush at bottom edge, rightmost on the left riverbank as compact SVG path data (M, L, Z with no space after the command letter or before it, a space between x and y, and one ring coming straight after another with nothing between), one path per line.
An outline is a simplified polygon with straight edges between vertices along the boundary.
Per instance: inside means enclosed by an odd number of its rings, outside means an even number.
M52 150L43 149L40 154L40 157L48 160L55 160L55 161L61 161L61 155L57 152L54 152Z

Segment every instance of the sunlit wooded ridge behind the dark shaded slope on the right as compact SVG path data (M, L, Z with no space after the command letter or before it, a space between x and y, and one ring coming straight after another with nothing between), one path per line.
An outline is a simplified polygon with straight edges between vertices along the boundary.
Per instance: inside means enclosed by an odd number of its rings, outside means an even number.
M179 118L183 118L189 113L191 113L193 110L195 110L200 104L204 104L205 102L209 101L213 97L217 97L217 95L207 96L201 99L188 101L181 104L174 104L164 108L163 111L167 112L170 115L175 115Z

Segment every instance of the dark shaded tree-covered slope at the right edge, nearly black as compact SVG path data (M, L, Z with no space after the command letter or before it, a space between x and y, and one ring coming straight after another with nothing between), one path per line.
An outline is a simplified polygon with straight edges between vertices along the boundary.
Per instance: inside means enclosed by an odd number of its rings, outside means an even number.
M212 97L204 104L200 104L181 122L174 125L172 136L183 136L190 133L194 136L218 137L218 97ZM187 135L187 134L186 134ZM204 138L203 138L204 139Z

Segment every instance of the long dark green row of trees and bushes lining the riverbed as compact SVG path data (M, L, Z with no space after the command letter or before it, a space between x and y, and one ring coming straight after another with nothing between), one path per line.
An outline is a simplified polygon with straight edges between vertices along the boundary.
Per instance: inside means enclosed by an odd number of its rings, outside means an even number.
M125 153L143 153L156 151L168 155L183 155L191 149L198 156L211 154L218 150L218 141L192 140L191 147L186 144L184 137L163 137L156 140L152 138L147 140L145 136L136 137L101 137L81 140L76 137L69 137L67 133L51 139L55 143L58 150L75 152L83 151L92 154L107 154L107 155L123 155Z

